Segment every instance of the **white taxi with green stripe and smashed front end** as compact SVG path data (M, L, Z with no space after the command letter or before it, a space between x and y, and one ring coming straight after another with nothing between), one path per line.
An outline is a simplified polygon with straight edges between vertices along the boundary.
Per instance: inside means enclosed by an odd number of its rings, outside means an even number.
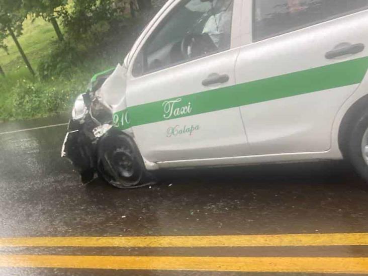
M344 157L368 179L366 45L368 0L169 0L77 101L79 130L100 122L80 171L133 188L159 168Z

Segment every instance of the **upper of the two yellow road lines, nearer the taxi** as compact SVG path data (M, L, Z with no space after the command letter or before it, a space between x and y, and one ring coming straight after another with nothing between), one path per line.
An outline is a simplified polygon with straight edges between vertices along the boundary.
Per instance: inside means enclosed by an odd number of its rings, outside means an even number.
M368 233L148 237L0 238L0 247L215 247L368 245Z

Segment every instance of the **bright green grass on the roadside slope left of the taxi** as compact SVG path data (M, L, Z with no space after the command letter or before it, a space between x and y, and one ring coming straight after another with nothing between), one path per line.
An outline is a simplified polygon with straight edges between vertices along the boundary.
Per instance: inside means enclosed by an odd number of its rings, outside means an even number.
M19 43L36 70L40 61L57 46L57 36L51 23L41 18L27 19L23 26ZM114 66L111 61L109 64L96 58L71 68L69 77L41 81L29 72L12 38L9 37L6 43L9 54L0 50L0 65L6 74L6 77L0 75L0 121L42 117L69 110L75 96L84 91L94 73Z

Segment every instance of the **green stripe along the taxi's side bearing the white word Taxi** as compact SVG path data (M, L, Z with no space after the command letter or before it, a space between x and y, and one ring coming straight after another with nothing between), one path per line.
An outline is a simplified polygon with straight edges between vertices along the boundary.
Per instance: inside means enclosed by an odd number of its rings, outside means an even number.
M114 114L120 130L360 83L368 57L128 107ZM175 107L171 107L175 105Z

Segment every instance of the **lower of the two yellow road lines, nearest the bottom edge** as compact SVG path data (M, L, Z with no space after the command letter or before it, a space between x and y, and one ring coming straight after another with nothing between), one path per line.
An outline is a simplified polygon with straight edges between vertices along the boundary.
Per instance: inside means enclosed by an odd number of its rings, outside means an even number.
M368 258L0 255L0 267L368 273Z

